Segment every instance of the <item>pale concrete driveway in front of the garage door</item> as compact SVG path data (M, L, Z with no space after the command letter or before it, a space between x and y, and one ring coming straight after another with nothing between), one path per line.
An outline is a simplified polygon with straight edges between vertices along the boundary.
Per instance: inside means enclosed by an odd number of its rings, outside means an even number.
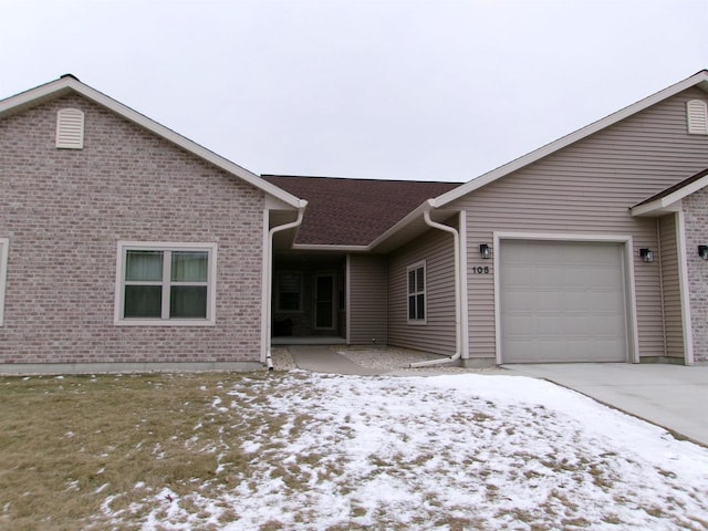
M503 367L577 391L708 447L708 366L569 363Z

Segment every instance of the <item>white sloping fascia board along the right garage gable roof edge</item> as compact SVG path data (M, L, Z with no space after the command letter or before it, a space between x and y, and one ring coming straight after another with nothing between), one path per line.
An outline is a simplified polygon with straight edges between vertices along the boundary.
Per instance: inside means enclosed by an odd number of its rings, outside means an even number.
M483 174L450 191L441 194L440 196L435 198L435 205L437 207L442 207L445 205L448 205L449 202L456 199L459 199L460 197L466 196L467 194L475 191L483 186L487 186L493 183L494 180L498 180L501 177L504 177L506 175L509 175L513 171L517 171L518 169L523 168L524 166L533 164L540 160L541 158L558 152L559 149L568 147L577 140L581 140L594 133L597 133L598 131L602 131L605 127L616 124L617 122L621 122L622 119L627 118L633 114L644 111L645 108L648 108L652 105L655 105L662 102L663 100L666 100L667 97L671 97L678 94L679 92L683 92L696 85L698 85L704 91L708 91L708 71L704 70L701 72L698 72L697 74L694 74L684 81L680 81L667 88L664 88L663 91L657 92L656 94L645 97L644 100L641 100L633 105L629 105L621 111L617 111L616 113L611 114L610 116L606 116L597 122L594 122L583 127L582 129L577 129L576 132L571 133L570 135L563 136L558 140L546 144L545 146L534 152L531 152L522 157L517 158L516 160L512 160L511 163L508 163L503 166L500 166L497 169L493 169L487 174Z

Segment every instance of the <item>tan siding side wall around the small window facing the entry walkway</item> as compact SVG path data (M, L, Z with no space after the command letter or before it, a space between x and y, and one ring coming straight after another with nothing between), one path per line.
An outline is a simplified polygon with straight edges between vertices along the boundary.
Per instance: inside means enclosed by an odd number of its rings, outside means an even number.
M426 264L426 324L408 323L407 268ZM389 257L388 343L436 354L455 352L452 236L429 230Z

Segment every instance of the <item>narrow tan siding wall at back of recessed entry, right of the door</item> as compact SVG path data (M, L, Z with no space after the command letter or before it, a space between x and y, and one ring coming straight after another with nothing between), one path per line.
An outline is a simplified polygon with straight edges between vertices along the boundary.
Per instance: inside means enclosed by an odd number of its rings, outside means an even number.
M367 254L348 257L350 344L385 345L387 330L386 258Z

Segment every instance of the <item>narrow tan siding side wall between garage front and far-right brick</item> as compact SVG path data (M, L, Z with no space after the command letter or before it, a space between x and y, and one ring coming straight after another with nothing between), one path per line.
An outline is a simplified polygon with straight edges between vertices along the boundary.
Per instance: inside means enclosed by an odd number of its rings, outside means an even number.
M684 326L681 321L681 294L678 277L678 249L676 247L676 215L657 219L659 228L659 260L662 264L662 293L664 300L664 326L666 355L684 358Z

